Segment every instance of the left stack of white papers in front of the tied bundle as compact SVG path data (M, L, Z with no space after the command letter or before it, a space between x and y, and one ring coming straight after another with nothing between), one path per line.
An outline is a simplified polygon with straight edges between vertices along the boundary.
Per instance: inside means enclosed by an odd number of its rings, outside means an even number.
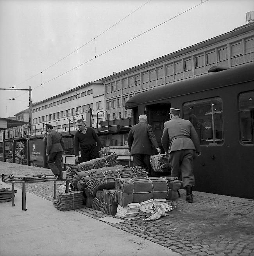
M127 220L143 217L145 215L144 213L141 213L139 211L140 207L141 207L141 204L138 204L138 203L127 204L127 206L125 207L122 207L118 204L117 213L115 214L115 216L125 218Z

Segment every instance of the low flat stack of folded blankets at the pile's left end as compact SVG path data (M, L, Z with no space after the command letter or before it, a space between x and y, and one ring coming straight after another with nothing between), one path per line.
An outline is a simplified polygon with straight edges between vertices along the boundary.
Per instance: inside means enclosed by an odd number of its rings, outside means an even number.
M82 208L83 201L83 193L79 191L59 194L57 196L56 208L60 211Z

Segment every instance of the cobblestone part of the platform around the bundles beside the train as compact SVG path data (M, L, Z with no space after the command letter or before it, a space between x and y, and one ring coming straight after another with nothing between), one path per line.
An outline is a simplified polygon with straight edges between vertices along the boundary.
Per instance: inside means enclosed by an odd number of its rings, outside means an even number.
M0 174L52 174L48 169L16 166L0 162ZM28 183L26 190L53 201L52 183ZM176 208L168 216L150 222L135 219L110 225L182 255L254 256L254 200L194 191L194 202L190 204L185 201L185 191L180 193ZM96 219L108 216L86 207L75 211Z

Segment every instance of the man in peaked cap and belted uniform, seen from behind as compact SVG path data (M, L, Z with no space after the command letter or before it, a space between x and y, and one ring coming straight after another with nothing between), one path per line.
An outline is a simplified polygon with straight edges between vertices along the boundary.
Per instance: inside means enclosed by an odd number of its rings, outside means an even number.
M169 154L171 177L180 177L186 188L186 201L193 202L192 187L195 185L193 159L200 156L199 136L189 120L179 118L180 109L170 109L170 121L165 122L161 143Z

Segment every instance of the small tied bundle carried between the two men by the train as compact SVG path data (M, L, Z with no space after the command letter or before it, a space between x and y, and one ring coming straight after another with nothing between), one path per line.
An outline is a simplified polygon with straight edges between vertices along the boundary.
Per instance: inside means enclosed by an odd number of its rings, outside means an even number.
M150 156L150 164L154 172L169 172L171 170L168 154Z

